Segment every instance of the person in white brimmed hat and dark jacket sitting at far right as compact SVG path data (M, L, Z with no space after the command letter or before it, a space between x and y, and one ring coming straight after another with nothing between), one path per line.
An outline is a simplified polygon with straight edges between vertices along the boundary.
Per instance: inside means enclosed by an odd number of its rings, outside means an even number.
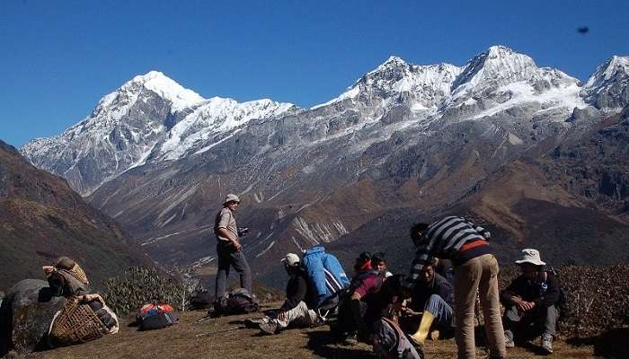
M551 354L559 318L559 282L553 273L545 271L537 250L522 250L516 263L522 274L501 293L506 307L502 318L506 346L515 346L514 335L527 340L541 334L542 348Z

